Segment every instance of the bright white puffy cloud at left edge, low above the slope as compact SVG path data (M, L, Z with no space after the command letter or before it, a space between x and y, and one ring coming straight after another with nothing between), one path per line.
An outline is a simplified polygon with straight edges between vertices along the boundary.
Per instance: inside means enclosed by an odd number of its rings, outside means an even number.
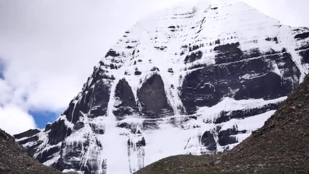
M14 105L0 107L0 120L0 128L11 135L36 127L33 117Z

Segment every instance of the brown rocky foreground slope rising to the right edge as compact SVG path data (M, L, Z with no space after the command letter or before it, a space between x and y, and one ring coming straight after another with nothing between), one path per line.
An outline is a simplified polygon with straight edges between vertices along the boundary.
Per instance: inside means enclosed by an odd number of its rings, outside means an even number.
M309 76L265 125L238 146L213 156L178 155L136 172L150 173L308 173Z

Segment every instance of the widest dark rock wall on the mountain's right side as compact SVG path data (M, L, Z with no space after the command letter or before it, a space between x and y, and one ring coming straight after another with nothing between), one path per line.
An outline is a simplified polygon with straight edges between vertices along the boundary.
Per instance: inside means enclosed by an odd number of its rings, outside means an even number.
M272 72L272 67L281 74ZM196 106L213 106L225 96L269 100L286 96L295 88L297 78L284 78L291 76L299 78L300 72L286 52L207 66L184 78L180 98L189 114L195 112Z

